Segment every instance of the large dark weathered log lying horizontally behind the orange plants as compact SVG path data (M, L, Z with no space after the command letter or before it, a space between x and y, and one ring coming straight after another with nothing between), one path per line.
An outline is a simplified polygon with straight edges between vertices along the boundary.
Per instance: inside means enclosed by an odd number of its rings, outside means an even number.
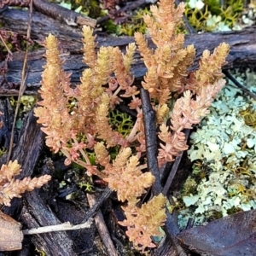
M26 35L28 14L26 11L7 9L3 11L0 17L0 22L3 28L19 32L21 35ZM61 42L61 49L69 55L64 57L64 70L67 73L73 73L72 84L79 84L79 77L86 67L82 62L82 41L81 31L79 28L60 24L45 15L33 12L32 14L32 39L39 44L43 44L44 38L51 32ZM127 44L134 42L133 38L129 37L103 37L100 34L97 37L98 47L100 46L119 46L125 50ZM224 69L233 67L254 67L256 61L256 41L255 28L251 27L240 32L222 32L222 33L202 33L187 35L185 45L195 44L196 58L195 64L191 70L198 67L198 60L204 49L213 50L218 44L225 42L230 44L230 55L228 64ZM149 47L154 47L154 44L148 38ZM8 72L0 75L0 80L4 79L3 86L0 88L0 95L15 95L17 89L12 89L10 86L20 84L20 75L24 53L18 52L13 55L13 61L8 63ZM44 49L32 51L28 56L29 72L26 80L26 94L36 94L40 85L41 73L44 66ZM3 62L0 63L2 67ZM135 62L132 66L132 71L136 77L136 84L139 84L143 79L147 69L140 60L138 54L135 55Z

